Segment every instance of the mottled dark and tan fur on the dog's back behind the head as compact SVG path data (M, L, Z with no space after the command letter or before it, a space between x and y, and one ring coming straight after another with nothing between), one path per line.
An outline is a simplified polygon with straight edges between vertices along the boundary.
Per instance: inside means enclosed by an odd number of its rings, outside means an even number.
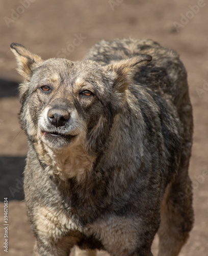
M140 67L135 74L135 82L149 87L152 91L162 90L169 94L179 108L188 94L187 72L174 50L164 48L152 40L102 40L88 51L84 59L108 65L139 54L149 54L152 60L148 65Z

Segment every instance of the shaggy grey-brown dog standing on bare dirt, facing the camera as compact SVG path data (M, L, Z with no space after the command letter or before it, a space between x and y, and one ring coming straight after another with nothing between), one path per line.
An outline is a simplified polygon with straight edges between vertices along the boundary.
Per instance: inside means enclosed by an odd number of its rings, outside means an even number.
M82 61L11 50L23 76L34 255L77 246L76 255L150 256L157 232L158 255L178 255L194 221L192 106L178 54L135 39L102 40Z

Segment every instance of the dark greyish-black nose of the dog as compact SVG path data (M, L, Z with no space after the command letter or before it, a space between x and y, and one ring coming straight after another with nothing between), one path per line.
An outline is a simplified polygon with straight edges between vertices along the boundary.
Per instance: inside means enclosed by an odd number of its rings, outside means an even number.
M63 126L70 118L70 113L64 109L52 108L48 111L48 120L56 127Z

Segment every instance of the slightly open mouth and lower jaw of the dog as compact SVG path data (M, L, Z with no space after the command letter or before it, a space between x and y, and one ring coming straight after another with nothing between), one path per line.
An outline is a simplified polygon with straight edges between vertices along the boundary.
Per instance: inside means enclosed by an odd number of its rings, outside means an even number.
M68 144L71 142L76 135L62 134L58 132L46 132L41 130L42 136L44 139L59 146L63 146L64 144Z

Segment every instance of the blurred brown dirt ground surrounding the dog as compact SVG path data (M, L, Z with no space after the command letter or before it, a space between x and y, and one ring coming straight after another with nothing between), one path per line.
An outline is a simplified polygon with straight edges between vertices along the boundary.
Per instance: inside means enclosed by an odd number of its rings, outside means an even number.
M183 60L194 111L190 176L195 225L180 256L208 255L208 3L203 0L7 0L0 2L0 254L32 255L34 238L22 191L27 141L17 113L16 62L10 44L18 42L42 58L81 60L100 39L147 38L175 49ZM188 18L187 18L187 17ZM82 37L73 46L75 37ZM9 200L9 249L4 251L4 198ZM155 238L152 252L157 255ZM99 253L101 255L102 252ZM107 255L107 254L102 254Z

